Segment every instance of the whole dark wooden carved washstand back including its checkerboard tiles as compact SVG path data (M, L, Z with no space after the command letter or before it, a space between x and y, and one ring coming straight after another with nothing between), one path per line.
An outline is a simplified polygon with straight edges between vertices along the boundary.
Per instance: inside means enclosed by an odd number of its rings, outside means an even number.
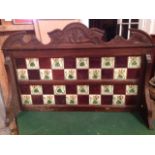
M102 40L103 32L80 23L49 33L41 44L19 32L3 45L15 116L23 110L146 111L152 128L148 81L152 40L140 30L131 38Z

